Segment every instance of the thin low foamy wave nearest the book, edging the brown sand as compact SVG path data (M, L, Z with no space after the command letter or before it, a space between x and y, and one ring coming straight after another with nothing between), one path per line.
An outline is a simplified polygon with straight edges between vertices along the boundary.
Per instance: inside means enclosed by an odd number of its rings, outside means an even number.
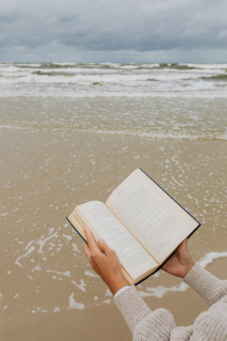
M20 125L19 125L20 124ZM224 133L221 132L195 132L195 133L186 133L186 132L160 132L160 131L138 131L138 130L127 130L127 129L93 129L93 128L78 128L67 126L64 123L64 126L55 126L51 127L46 125L41 126L38 123L30 123L24 124L15 123L15 124L0 124L0 128L4 129L15 129L15 130L33 130L33 131L59 131L59 132L78 132L78 133L91 133L91 134L106 134L106 135L130 135L130 136L138 136L138 137L146 137L151 139L171 139L171 140L227 140L227 130Z

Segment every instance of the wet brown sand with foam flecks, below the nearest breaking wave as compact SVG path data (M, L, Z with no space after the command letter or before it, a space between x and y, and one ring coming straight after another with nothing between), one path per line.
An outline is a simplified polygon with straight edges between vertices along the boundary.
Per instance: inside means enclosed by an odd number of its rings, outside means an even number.
M0 144L3 340L131 339L65 217L85 201L105 202L137 167L201 222L189 240L195 261L226 251L225 141L1 129ZM226 260L206 268L225 279ZM138 290L146 296L180 282L160 271ZM177 325L207 309L190 288L159 296L144 299L169 309Z

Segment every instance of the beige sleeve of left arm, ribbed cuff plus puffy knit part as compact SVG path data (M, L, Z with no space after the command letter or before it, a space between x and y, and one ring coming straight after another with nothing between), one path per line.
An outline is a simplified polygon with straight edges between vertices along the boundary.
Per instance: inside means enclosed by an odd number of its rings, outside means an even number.
M134 341L170 339L176 327L173 315L163 308L152 312L134 285L119 293L114 302L131 329Z

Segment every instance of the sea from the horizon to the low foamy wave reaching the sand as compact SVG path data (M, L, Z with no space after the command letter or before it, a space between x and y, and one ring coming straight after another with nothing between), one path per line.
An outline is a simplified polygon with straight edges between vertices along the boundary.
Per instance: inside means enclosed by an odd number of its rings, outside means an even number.
M227 139L226 63L0 63L0 127Z

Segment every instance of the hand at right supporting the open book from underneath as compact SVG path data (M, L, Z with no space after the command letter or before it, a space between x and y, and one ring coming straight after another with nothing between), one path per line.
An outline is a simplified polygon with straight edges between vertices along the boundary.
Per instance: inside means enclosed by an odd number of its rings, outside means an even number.
M162 270L171 273L171 275L184 278L194 265L195 262L189 253L187 238L185 238L173 256L162 266Z

